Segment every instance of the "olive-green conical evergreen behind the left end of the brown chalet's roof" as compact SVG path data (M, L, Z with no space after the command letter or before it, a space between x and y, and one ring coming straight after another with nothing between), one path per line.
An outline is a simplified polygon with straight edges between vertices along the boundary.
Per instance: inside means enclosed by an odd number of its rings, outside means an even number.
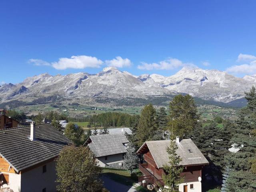
M152 104L146 105L140 114L138 128L136 131L136 139L138 146L141 146L145 141L153 140L158 130L158 122L156 109Z

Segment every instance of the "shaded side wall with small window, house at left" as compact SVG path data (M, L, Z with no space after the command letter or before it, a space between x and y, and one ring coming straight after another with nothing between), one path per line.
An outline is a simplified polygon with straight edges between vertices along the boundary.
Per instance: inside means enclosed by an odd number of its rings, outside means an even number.
M56 192L55 162L46 164L46 172L43 173L43 165L21 174L21 192Z

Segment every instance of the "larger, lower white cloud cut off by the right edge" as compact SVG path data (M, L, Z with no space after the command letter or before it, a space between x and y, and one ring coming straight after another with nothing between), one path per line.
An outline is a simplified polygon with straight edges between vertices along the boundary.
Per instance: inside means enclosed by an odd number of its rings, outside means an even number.
M256 60L250 62L250 64L233 65L227 68L227 71L234 74L255 74Z

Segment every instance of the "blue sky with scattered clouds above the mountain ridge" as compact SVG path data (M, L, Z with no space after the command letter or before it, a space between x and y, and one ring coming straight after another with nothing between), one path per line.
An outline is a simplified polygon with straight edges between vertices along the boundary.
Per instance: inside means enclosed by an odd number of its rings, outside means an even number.
M0 83L106 66L256 74L255 8L254 0L1 1Z

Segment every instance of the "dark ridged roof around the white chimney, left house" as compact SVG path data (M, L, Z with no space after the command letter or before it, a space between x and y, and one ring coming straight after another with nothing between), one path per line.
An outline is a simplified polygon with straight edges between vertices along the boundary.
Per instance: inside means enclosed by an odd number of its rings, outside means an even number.
M0 130L0 156L16 172L58 156L72 143L51 124L36 125L36 140L29 137L30 126Z

